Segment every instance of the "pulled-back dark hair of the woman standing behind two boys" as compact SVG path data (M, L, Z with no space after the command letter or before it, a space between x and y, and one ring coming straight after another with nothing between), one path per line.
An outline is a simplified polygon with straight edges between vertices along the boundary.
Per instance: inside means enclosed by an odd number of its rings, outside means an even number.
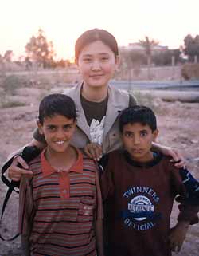
M102 41L107 45L111 51L115 54L115 57L119 55L118 44L115 37L107 32L107 30L93 29L87 30L80 35L76 40L75 45L75 57L78 59L81 50L88 44L91 44L94 41Z

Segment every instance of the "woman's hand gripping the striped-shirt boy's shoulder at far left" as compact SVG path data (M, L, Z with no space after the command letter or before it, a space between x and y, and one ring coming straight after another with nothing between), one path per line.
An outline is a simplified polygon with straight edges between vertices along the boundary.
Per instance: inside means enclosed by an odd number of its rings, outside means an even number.
M18 167L18 164L21 164L21 167ZM28 168L28 164L21 156L15 156L13 163L8 168L8 177L14 181L20 181L23 174L33 175L32 171L27 170Z

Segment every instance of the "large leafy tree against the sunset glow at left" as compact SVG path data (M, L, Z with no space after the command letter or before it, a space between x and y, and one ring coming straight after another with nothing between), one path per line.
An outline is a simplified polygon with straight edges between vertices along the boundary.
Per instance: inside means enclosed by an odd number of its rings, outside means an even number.
M41 29L38 30L37 36L30 38L29 43L25 45L25 51L29 60L37 61L44 68L51 66L53 57L55 57L53 42L47 41L44 31Z

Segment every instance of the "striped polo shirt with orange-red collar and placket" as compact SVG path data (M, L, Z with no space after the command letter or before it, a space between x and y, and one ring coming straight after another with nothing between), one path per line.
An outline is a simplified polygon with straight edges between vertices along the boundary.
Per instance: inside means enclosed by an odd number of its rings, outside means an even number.
M78 152L66 174L53 170L41 153L29 169L33 178L25 176L20 185L19 232L29 236L30 254L96 255L93 223L103 211L95 163Z

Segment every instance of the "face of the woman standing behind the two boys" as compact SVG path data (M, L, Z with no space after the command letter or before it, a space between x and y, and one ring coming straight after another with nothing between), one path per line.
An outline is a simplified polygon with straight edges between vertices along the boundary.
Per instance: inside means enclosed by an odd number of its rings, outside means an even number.
M86 45L76 61L84 83L91 87L107 86L119 65L119 57L102 41Z

